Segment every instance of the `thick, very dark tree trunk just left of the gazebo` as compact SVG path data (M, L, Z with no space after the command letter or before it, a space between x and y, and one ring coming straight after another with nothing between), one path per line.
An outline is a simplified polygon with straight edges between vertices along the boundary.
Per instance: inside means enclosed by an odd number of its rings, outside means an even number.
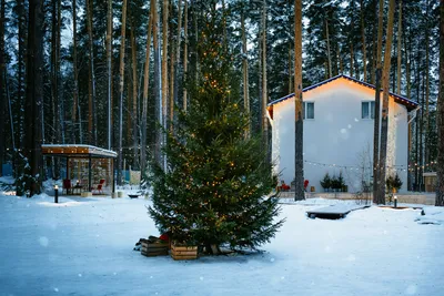
M27 51L27 101L24 191L29 196L40 193L42 169L42 103L43 103L43 3L29 0Z

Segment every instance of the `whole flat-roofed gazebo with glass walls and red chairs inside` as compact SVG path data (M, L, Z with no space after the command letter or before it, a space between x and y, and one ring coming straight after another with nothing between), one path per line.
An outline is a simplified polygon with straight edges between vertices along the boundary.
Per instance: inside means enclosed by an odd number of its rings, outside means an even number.
M67 194L115 192L113 172L118 154L114 151L91 145L43 144L42 154L65 160L67 174L63 178L63 190Z

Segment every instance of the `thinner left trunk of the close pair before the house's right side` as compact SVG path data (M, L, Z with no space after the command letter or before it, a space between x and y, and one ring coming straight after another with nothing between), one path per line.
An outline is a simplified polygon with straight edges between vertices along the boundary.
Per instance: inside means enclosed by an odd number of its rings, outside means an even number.
M377 49L375 69L375 118L373 130L373 203L380 203L380 121L381 121L381 74L382 74L382 31L384 25L384 0L380 0L377 14Z

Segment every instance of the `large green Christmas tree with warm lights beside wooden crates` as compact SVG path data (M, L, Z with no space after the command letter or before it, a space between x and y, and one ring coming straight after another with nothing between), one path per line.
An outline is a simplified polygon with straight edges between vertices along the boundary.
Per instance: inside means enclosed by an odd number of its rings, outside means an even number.
M230 85L231 61L223 43L224 17L208 6L199 37L199 79L186 88L186 113L167 133L167 169L151 165L153 204L149 208L161 233L178 244L219 253L220 246L256 248L270 242L283 221L268 196L276 176L260 136L245 136L248 113Z

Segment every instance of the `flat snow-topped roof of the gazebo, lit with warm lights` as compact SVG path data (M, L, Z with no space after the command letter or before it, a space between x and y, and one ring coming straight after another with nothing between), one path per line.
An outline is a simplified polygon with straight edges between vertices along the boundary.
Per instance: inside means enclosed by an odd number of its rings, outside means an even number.
M94 157L94 159L115 159L118 153L91 145L80 144L43 144L43 155L63 157Z

